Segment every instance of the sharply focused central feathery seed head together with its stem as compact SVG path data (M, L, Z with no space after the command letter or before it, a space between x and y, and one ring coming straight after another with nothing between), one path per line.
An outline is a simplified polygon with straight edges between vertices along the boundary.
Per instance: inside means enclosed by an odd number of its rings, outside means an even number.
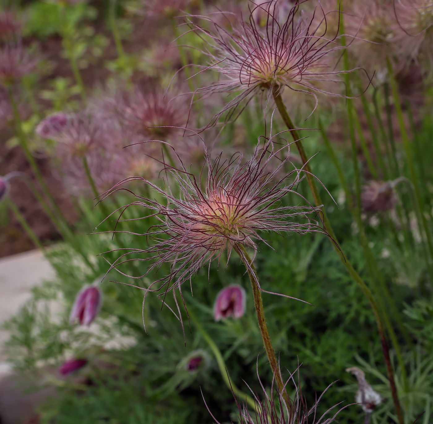
M156 216L160 221L147 233L149 242L153 243L146 249L133 249L133 252L145 254L142 260L150 263L146 275L163 264L171 264L168 275L144 290L146 293L156 292L159 296L172 291L180 321L176 289L181 292L183 282L191 282L200 267L205 263L210 266L214 259L220 260L224 251L227 251L227 260L233 249L239 254L251 280L263 342L281 392L284 387L266 326L261 296L263 290L246 248L256 252L257 241L263 240L260 233L266 231L323 232L320 223L314 219L319 207L284 204L283 197L289 193L297 194L295 188L304 173L304 170L296 168L284 171L291 165L289 157L290 145L275 149L271 137L263 145L259 142L251 159L246 162L243 162L242 155L226 161L220 155L212 161L206 153L207 178L204 190L201 181L187 172L179 156L180 169L165 166L166 172L172 175L166 181L166 188L144 178L131 177L112 189L115 191L120 184L139 179L165 198L165 204L143 197L132 203L150 210L149 216ZM174 194L170 182L173 180L177 183L179 195ZM123 260L123 256L120 257L112 267L116 268Z

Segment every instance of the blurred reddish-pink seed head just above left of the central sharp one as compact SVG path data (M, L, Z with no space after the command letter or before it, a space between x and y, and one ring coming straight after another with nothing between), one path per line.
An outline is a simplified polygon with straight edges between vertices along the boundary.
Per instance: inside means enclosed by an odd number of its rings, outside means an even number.
M121 124L145 138L168 137L179 132L187 122L187 108L177 97L157 91L145 93L139 87L123 92L116 99L115 110Z

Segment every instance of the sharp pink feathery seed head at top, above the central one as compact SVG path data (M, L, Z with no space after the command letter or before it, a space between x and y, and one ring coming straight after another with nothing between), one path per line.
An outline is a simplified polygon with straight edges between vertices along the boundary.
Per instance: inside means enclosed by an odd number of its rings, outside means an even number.
M306 0L310 1L310 0ZM254 95L271 90L301 90L317 98L317 92L340 96L337 92L327 92L318 83L330 81L334 85L343 85L327 56L343 47L337 42L337 35L326 37L326 26L313 23L317 14L323 10L316 3L313 16L308 18L299 12L295 4L287 13L283 23L275 17L278 2L268 2L265 6L252 3L248 22L240 19L232 31L219 26L215 20L201 16L201 19L213 25L215 30L208 31L194 22L190 22L197 32L204 32L210 39L214 53L205 52L211 63L208 68L221 74L220 81L197 90L198 93L233 93L235 97L213 117L213 123L227 113L230 119L240 105L245 105ZM255 22L254 13L260 8L267 15L267 25L260 28ZM224 14L224 12L222 12ZM323 28L323 29L321 29ZM336 55L336 59L338 56ZM241 107L242 109L242 107Z

